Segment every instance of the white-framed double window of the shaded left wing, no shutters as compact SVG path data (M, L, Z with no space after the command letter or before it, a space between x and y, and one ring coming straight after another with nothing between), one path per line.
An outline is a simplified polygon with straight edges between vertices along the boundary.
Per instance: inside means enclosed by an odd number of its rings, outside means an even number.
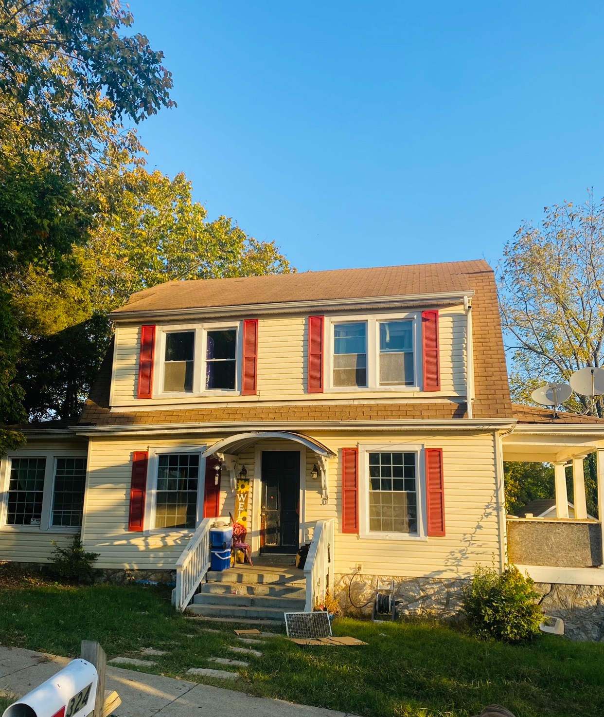
M68 453L68 452L66 452ZM82 526L86 457L41 451L3 461L0 501L3 529L76 532Z

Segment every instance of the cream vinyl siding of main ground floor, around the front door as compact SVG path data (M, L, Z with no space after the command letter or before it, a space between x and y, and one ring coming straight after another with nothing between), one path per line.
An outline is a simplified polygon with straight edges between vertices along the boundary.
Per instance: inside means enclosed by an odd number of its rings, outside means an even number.
M328 461L329 497L322 498L320 480L312 480L310 471L315 454L305 450L306 475L303 541L312 538L317 520L336 519L335 571L347 574L358 564L363 574L455 577L471 574L478 564L499 561L499 526L494 463L494 435L404 435L368 433L366 435L310 434L337 453ZM196 442L196 449L211 445L217 437ZM375 444L384 450L390 444L421 444L444 450L444 490L446 536L426 540L390 540L359 538L341 531L340 451L358 444ZM130 495L131 455L135 450L170 447L183 450L191 440L92 440L90 442L90 476L87 490L83 538L87 549L100 553L100 568L173 569L186 546L191 532L128 533L128 500ZM254 490L259 490L259 470L255 457L262 448L293 450L299 445L266 441L241 452L240 464L246 466L251 484L250 508ZM193 450L193 449L192 449ZM378 449L376 449L378 450ZM226 473L226 472L225 472ZM203 481L203 475L201 475ZM425 491L423 493L425 500ZM367 497L360 495L360 500ZM259 497L256 503L259 505ZM224 475L221 483L221 515L228 519L234 512L234 495ZM257 531L259 516L252 516ZM249 536L251 539L251 536Z

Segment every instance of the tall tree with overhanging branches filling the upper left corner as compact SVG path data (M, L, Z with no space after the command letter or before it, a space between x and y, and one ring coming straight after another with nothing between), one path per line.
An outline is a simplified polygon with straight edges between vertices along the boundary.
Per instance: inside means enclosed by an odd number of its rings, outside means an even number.
M88 238L98 168L136 161L138 123L171 75L118 0L0 0L0 425L25 417L14 294L28 267L58 282ZM0 428L0 455L22 436Z

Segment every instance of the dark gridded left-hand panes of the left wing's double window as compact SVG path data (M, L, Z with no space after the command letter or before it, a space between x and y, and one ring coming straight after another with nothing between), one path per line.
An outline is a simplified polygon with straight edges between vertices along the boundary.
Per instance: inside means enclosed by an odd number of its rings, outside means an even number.
M42 518L46 458L12 458L9 478L9 526L39 526Z

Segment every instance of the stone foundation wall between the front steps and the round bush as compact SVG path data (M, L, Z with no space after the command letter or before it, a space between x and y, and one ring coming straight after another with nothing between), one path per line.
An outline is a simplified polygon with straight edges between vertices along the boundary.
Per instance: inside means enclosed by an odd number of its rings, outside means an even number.
M468 579L408 578L401 576L336 575L334 595L345 614L367 616L373 609L373 596L380 584L394 581L397 617L459 616L461 590ZM365 604L368 603L368 604ZM363 607L357 607L363 606Z

